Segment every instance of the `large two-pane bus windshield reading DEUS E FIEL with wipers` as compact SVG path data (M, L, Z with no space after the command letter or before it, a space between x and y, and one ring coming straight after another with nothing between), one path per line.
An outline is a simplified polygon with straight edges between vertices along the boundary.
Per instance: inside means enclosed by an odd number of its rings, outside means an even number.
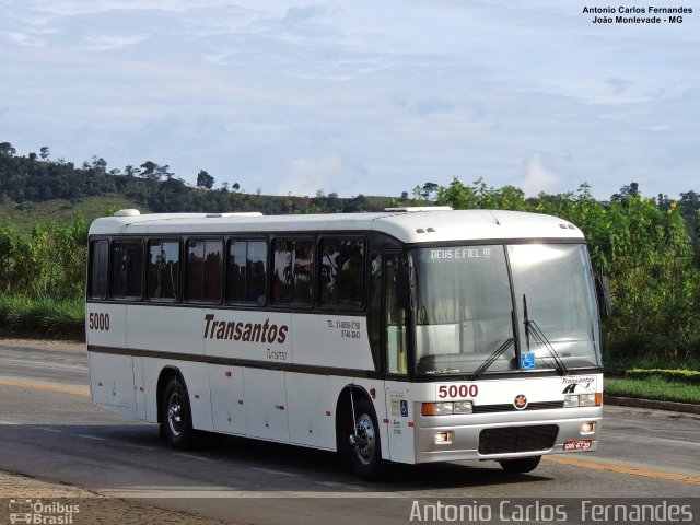
M585 245L431 247L411 257L419 375L600 365Z

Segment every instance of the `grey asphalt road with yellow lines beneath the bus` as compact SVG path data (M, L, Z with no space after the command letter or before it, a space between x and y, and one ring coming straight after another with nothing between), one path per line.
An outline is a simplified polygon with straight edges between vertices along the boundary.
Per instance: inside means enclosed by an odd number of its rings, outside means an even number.
M393 465L368 483L335 454L300 447L207 436L170 450L156 425L91 406L86 385L84 351L0 340L0 470L256 524L408 523L417 501L700 497L700 416L606 407L597 452L548 456L528 475L492 462Z

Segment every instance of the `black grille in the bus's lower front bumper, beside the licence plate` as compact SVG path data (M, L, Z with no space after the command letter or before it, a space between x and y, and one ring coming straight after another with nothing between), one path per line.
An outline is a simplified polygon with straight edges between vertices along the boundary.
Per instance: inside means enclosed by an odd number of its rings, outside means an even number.
M555 445L558 432L556 424L485 429L479 433L479 454L546 451Z

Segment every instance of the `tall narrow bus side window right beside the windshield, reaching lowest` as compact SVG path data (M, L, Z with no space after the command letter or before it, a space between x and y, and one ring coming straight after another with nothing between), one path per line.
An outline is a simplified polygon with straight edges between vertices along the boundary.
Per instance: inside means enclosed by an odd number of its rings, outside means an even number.
M406 374L406 311L399 301L400 258L398 254L387 254L384 260L384 305L386 323L386 371L389 374Z

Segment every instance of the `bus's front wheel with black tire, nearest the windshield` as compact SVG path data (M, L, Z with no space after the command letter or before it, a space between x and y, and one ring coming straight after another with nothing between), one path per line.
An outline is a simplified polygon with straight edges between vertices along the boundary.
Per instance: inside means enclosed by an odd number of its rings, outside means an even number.
M362 479L377 480L382 476L384 462L376 415L372 404L365 398L355 400L354 411L355 427L353 428L352 420L348 425L348 452L352 468Z

